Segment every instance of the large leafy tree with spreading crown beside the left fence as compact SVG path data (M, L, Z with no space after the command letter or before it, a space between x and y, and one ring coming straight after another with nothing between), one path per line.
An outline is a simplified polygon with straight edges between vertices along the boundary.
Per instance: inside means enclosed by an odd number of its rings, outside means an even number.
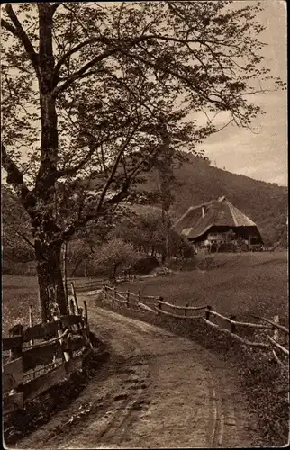
M52 302L67 312L62 243L127 198L160 148L193 150L219 112L250 126L251 95L270 79L259 11L228 1L3 8L2 166L30 218L43 320Z

